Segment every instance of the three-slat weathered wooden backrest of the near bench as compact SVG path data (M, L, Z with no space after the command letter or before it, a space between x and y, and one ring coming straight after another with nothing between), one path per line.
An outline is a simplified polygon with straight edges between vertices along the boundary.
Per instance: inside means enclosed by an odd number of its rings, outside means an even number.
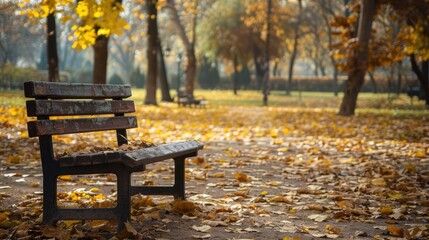
M28 135L44 137L69 133L116 130L118 145L127 143L126 129L137 127L134 102L123 100L131 96L129 85L26 82ZM82 116L113 114L84 118L50 120L51 116Z

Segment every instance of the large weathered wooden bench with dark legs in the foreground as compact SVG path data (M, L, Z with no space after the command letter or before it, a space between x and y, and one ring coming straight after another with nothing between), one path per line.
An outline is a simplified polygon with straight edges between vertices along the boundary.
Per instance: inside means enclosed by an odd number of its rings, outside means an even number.
M185 159L197 155L203 144L182 141L141 148L134 151L107 151L56 157L53 135L116 130L117 144L127 144L127 130L137 127L134 102L128 85L92 85L49 82L24 83L29 137L38 137L43 168L43 223L57 220L115 219L118 231L130 219L130 198L134 194L173 195L185 198ZM101 115L104 116L94 116ZM109 114L106 117L106 114ZM113 115L110 115L113 114ZM74 116L86 115L76 118ZM51 120L51 116L56 117ZM73 116L73 117L70 117ZM88 117L89 116L89 117ZM61 118L61 119L59 119ZM132 186L131 174L143 171L146 164L174 160L173 186ZM114 208L59 208L57 179L61 175L113 173L117 179L117 204Z

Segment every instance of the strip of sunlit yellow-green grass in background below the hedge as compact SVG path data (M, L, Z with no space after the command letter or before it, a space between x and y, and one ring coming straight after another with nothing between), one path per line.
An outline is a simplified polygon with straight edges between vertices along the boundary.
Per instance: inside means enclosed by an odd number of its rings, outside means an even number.
M174 97L176 92L171 91ZM136 104L143 104L146 96L145 89L133 89L131 97ZM232 90L196 90L195 96L208 100L208 107L219 106L262 106L262 94L260 91L243 90L234 95ZM157 92L158 101L161 101L161 92ZM292 92L287 96L284 91L271 91L268 97L270 107L298 107L298 108L329 108L337 111L342 101L343 94L334 96L331 92ZM23 92L0 91L0 105L24 106L26 99ZM381 114L396 116L428 116L425 111L424 101L410 101L408 96L388 95L386 93L360 93L357 102L357 114Z

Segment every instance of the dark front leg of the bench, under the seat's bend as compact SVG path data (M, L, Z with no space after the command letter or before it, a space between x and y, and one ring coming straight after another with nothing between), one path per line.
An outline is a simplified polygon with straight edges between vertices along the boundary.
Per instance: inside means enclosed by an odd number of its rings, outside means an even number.
M117 177L117 216L118 216L118 229L120 232L125 227L125 222L130 220L131 212L131 172L122 169L116 173Z

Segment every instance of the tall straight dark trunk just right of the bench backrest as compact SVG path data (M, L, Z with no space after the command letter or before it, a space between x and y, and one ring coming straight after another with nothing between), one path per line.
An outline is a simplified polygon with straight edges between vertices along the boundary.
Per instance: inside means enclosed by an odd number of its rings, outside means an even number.
M146 0L148 16L148 47L147 47L147 84L146 98L144 104L156 105L156 79L158 70L157 47L158 47L158 26L157 26L157 0Z

